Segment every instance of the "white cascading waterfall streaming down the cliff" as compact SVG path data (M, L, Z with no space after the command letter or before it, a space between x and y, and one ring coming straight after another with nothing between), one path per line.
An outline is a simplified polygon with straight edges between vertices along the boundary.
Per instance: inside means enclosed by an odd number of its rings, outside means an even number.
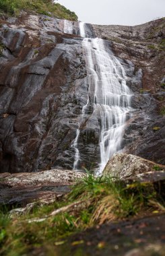
M80 35L86 37L85 24L79 24ZM88 104L100 119L100 164L96 174L101 174L109 158L122 149L125 123L130 117L131 92L126 84L125 70L114 57L106 42L100 38L84 38L82 42L86 57L88 100L79 117L79 127L84 122ZM73 169L79 168L79 127L72 147L75 150Z

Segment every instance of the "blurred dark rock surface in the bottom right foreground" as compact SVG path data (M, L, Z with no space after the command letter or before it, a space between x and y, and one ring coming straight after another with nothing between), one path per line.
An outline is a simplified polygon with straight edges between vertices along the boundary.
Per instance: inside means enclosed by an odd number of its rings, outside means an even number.
M57 255L163 256L164 220L161 215L104 224L71 237L56 247Z

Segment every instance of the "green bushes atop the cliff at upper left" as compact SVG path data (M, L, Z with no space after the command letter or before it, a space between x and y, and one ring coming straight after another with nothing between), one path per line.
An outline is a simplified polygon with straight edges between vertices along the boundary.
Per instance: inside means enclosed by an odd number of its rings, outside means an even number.
M36 11L55 18L77 20L77 15L73 11L59 3L52 3L51 0L0 0L0 9L8 15L19 15L20 11L24 10Z

